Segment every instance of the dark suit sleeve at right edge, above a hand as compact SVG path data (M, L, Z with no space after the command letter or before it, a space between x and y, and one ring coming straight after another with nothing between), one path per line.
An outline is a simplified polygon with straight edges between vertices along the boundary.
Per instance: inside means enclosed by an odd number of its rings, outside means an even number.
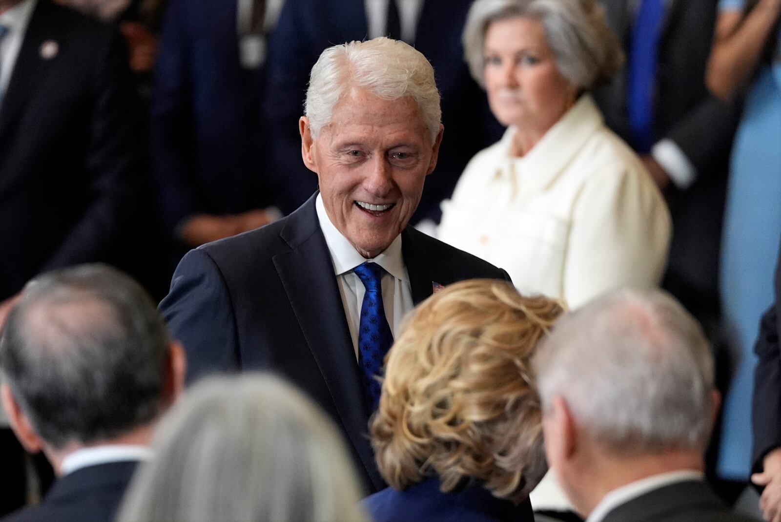
M753 471L762 470L762 459L772 449L781 447L781 252L776 264L776 300L762 316L759 337L754 345L757 366L754 369L754 398L751 404L751 449Z

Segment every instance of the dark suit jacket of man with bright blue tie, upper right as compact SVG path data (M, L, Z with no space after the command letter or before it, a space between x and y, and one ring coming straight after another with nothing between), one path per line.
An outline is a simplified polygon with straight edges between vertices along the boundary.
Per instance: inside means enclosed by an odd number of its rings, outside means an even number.
M600 0L608 23L629 49L634 13L629 0ZM737 107L712 96L705 86L718 0L667 0L654 91L654 140L669 138L697 169L686 191L669 188L672 241L665 276L668 288L703 320L719 313L719 243ZM605 121L629 140L627 70L594 93Z

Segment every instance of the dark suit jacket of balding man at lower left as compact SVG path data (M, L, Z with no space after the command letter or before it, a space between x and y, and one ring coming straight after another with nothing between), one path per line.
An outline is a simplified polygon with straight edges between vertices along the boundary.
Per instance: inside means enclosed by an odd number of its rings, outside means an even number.
M60 477L37 506L2 522L112 522L137 462L83 467Z

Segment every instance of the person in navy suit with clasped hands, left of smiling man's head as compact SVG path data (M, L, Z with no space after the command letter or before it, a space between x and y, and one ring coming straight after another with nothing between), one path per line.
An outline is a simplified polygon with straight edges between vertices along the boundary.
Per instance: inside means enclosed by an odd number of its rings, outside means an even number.
M278 130L262 123L260 102L266 38L282 3L168 2L149 145L173 266L189 248L279 216L266 170L266 143Z

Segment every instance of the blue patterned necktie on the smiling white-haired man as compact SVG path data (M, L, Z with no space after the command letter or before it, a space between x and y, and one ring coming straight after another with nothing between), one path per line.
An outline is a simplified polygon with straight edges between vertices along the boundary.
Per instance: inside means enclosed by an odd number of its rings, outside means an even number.
M376 263L363 263L353 271L366 287L358 324L358 364L362 370L367 402L374 411L380 401L380 383L375 376L380 375L385 354L393 344L393 334L383 307L381 280L384 270Z

